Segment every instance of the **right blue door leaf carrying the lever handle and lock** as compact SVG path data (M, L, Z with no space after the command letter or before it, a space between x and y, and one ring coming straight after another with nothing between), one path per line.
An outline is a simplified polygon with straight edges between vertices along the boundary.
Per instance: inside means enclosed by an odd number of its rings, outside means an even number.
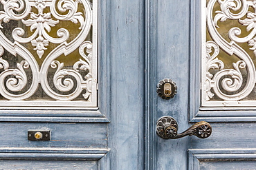
M255 169L255 3L147 3L145 169ZM177 85L170 100L156 96L164 78ZM212 135L165 140L155 133L162 116L174 117L179 133L207 121Z

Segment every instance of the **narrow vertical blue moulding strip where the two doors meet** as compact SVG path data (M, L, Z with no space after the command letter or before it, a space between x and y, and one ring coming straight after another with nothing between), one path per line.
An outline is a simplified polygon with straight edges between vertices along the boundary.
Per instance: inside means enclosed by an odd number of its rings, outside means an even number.
M145 169L155 169L156 1L145 0ZM155 94L156 95L156 94Z

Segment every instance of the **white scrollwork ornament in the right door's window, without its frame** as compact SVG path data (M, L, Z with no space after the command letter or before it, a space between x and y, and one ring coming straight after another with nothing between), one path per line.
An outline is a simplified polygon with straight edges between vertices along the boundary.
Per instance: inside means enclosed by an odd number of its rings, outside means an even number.
M218 8L214 8L216 6ZM202 103L204 105L208 102L208 106L219 106L217 103L210 104L216 100L240 103L255 87L255 65L241 43L248 43L248 49L256 56L256 1L209 0L206 12L207 29L212 41L205 43L206 54L202 61L202 65L205 65L202 67ZM219 32L220 23L226 21L237 22L237 26L228 31L230 41ZM241 36L243 26L248 32L246 36ZM220 49L230 56L237 57L237 62L232 63L233 68L226 68L224 62L218 59ZM214 96L217 99L214 99Z

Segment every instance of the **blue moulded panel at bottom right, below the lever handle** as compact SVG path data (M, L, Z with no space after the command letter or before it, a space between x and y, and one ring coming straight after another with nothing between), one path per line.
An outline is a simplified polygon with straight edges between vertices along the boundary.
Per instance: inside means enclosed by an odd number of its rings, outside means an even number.
M255 148L189 149L189 169L255 169Z

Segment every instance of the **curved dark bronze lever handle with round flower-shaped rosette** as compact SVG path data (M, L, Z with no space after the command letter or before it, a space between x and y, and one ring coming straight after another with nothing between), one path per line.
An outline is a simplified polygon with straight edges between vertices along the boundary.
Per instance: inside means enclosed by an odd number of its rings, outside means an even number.
M164 139L177 139L188 135L208 138L212 134L212 127L209 123L202 121L178 134L178 123L176 120L171 116L163 116L156 123L156 133Z

